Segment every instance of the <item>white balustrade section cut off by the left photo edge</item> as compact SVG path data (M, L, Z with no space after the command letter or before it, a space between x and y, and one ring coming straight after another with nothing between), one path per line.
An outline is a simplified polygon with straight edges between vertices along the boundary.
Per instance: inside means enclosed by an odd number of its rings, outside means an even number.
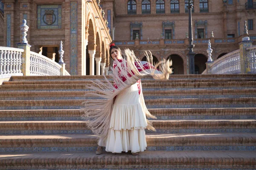
M24 50L20 48L0 47L0 78L22 75L23 52Z

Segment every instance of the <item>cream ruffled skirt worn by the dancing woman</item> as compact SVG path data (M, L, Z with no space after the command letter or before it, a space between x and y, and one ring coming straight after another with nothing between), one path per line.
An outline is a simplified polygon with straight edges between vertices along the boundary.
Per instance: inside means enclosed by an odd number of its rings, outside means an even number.
M106 141L106 151L112 153L143 152L146 147L147 121L138 93L137 83L116 96Z

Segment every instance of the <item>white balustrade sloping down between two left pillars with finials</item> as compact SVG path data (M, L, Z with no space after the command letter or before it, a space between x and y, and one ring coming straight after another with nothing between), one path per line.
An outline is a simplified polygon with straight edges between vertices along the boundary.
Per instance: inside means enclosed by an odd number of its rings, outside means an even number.
M61 65L48 57L30 51L30 75L60 76Z

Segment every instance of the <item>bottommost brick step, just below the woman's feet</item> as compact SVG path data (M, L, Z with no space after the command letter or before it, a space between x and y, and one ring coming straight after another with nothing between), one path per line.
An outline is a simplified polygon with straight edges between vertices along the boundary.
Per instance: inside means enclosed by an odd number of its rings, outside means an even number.
M138 156L130 153L94 152L14 152L0 153L0 169L53 169L81 168L157 168L163 170L188 170L187 168L218 170L243 170L256 168L255 151L144 151ZM221 169L223 168L223 169ZM197 169L198 170L198 169Z

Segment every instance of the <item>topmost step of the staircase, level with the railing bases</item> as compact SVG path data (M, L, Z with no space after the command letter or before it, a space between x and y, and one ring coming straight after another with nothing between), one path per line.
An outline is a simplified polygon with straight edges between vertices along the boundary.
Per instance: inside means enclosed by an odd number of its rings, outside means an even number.
M106 76L110 79L110 76ZM255 78L256 74L171 74L169 79L239 79L239 78ZM10 81L41 81L41 80L95 80L105 79L104 76L12 76ZM151 76L143 79L152 79Z

